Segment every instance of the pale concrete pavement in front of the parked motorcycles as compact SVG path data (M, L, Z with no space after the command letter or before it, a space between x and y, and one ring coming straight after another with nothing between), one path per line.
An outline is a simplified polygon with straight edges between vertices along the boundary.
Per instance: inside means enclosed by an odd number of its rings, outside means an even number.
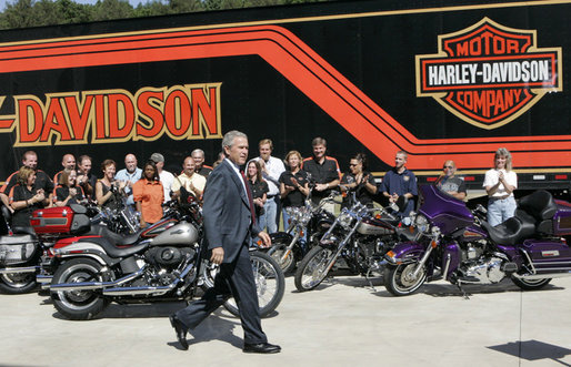
M218 310L177 348L167 316L180 303L110 306L69 322L46 296L0 296L0 365L17 366L571 366L571 278L540 292L510 282L467 287L443 282L392 297L377 281L339 277L297 293L262 322L279 355L241 351L239 320Z

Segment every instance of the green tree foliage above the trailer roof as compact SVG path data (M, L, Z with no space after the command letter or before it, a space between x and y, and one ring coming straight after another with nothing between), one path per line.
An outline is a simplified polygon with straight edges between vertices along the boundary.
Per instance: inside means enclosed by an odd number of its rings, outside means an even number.
M328 0L148 0L137 8L128 0L98 0L94 4L72 0L14 0L0 12L0 29L319 1Z

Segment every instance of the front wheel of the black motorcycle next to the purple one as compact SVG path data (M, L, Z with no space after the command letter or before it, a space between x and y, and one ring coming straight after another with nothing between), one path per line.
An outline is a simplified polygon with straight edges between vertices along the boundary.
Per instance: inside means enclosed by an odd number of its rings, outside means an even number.
M295 288L299 292L311 290L323 282L328 274L328 264L334 252L330 248L315 246L301 261L295 272Z

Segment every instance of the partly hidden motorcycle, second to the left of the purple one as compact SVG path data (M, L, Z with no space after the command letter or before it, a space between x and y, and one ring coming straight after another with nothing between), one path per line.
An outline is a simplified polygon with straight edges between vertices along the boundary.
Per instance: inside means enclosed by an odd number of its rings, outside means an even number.
M331 227L335 216L323 208L328 202L334 202L332 193L313 205L311 197L305 200L305 205L300 207L288 207L289 228L286 232L270 234L272 246L268 255L280 265L283 273L291 273L298 262L319 243L319 238ZM303 235L308 234L308 241L302 243Z

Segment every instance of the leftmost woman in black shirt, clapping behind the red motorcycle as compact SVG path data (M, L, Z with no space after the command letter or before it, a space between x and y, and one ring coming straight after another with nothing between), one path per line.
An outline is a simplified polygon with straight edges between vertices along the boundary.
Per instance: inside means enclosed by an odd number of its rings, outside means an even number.
M30 217L33 211L48 205L43 188L34 192L36 171L23 166L18 171L17 184L10 190L10 206L14 210L12 214L12 226L29 227Z

